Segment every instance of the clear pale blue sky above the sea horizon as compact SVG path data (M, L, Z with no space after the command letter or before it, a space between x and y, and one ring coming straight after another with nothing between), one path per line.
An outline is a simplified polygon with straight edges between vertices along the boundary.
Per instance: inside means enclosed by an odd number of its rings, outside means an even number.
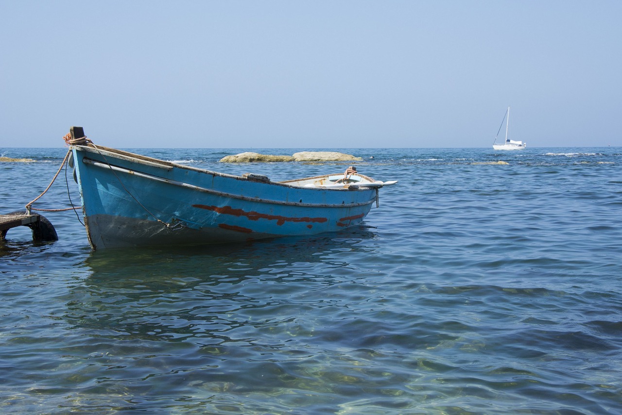
M0 0L0 147L622 146L622 1Z

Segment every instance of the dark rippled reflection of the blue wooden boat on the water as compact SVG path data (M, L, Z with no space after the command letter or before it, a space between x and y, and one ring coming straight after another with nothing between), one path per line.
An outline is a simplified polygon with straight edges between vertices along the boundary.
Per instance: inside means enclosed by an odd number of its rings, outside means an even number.
M195 246L93 251L85 259L87 275L72 292L65 320L121 340L132 336L244 344L247 341L235 330L245 325L254 330L262 318L280 318L276 307L304 307L310 291L360 277L357 264L374 257L376 246L366 241L376 234L360 225L338 236L283 237L210 250Z

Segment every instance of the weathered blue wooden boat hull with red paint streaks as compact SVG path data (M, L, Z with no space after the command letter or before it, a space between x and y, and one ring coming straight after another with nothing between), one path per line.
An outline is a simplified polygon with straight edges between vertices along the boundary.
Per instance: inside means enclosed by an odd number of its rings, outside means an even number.
M216 244L338 231L363 221L381 187L327 188L335 186L322 185L330 184L329 176L277 183L92 144L71 149L93 249ZM359 178L373 186L372 179Z

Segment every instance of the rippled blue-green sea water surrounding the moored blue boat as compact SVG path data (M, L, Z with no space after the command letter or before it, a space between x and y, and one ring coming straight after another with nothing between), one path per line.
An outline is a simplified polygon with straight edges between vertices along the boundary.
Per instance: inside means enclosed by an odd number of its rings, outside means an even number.
M335 150L399 180L335 234L91 252L71 211L44 212L57 242L11 229L0 411L622 413L622 148ZM0 163L0 213L65 151L0 148L35 160ZM347 167L135 151L275 180ZM62 170L35 207L79 199Z

